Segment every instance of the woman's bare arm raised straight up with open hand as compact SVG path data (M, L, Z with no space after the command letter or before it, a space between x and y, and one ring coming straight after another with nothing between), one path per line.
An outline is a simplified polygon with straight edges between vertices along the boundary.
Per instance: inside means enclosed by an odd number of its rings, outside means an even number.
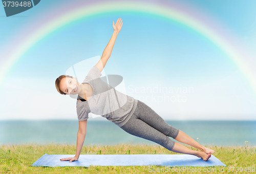
M116 41L116 37L118 35L118 33L120 32L121 28L122 28L122 20L121 18L118 18L117 21L116 21L116 25L114 24L114 21L113 21L113 29L114 29L114 32L112 34L112 37L108 43L108 45L106 45L106 48L104 49L103 53L102 53L102 56L100 58L100 60L98 61L98 63L95 65L100 72L102 72L103 68L105 67L106 65L106 62L109 60L110 58L110 55L112 53L112 50L113 50L113 47L114 47L114 44L115 44L115 41Z

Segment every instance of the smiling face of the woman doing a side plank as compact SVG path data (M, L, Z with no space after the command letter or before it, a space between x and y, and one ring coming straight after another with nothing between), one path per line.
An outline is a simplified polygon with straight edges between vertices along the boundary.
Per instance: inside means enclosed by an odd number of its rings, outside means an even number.
M59 84L59 89L68 95L70 94L75 95L81 91L80 83L76 81L75 77L62 78Z

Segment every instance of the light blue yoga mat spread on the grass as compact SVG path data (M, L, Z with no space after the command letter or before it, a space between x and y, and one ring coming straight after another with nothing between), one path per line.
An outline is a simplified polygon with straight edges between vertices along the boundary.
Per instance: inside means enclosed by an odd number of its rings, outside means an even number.
M211 155L204 161L193 155L80 155L78 161L60 161L62 158L75 155L48 155L39 158L32 166L226 166L218 158Z

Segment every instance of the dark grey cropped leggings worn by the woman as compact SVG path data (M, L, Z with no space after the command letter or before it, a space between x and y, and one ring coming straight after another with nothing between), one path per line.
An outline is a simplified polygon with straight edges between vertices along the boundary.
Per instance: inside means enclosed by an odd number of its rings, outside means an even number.
M172 150L175 144L168 137L175 139L179 134L179 129L167 124L152 108L139 100L132 117L120 128L134 136L154 141L168 150Z

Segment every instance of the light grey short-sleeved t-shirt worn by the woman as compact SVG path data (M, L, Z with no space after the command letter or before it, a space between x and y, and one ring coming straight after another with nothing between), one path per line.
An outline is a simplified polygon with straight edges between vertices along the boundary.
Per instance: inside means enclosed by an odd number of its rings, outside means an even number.
M106 83L106 77L95 66L89 71L82 83L89 83L93 94L88 101L76 102L78 121L87 120L91 112L112 121L119 127L124 125L133 115L138 100L127 96Z

